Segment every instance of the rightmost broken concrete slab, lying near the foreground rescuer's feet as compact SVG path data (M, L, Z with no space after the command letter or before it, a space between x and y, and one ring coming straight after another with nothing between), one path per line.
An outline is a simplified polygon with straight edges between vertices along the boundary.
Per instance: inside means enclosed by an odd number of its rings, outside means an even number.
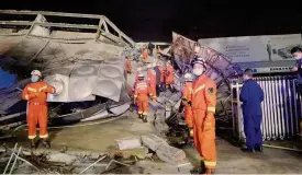
M172 165L183 164L186 161L184 151L170 145L161 145L156 150L157 156Z

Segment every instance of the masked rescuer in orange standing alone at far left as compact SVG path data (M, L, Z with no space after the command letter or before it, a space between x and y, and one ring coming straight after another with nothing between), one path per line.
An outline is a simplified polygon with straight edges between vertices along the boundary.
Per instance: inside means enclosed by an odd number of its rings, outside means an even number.
M31 148L36 148L36 126L40 127L40 138L45 148L51 148L47 141L47 94L55 93L55 89L47 83L41 81L42 73L38 70L32 71L32 83L27 84L22 93L22 98L27 101L27 125L29 139L31 140Z

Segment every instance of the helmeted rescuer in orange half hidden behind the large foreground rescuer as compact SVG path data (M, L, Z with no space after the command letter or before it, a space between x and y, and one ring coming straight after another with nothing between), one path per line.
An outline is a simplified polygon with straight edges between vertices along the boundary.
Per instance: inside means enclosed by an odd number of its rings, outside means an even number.
M192 81L193 74L186 73L184 74L184 88L182 90L182 104L184 106L184 119L190 129L190 137L193 137L193 120L192 120Z

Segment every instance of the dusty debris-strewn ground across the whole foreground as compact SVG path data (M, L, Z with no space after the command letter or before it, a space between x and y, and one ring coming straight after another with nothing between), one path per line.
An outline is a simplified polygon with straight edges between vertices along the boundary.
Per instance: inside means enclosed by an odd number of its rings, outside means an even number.
M141 66L141 65L139 65ZM136 63L133 63L134 70ZM133 83L135 71L128 77ZM126 112L116 118L83 122L78 127L63 127L51 129L52 149L40 148L31 153L26 139L26 130L18 130L15 140L18 147L15 156L7 173L52 173L52 174L189 174L200 162L199 154L193 147L170 148L165 138L150 139L158 135L154 126L153 113L149 121L143 122L135 112ZM217 131L222 132L222 131ZM163 136L160 136L163 137ZM127 138L125 140L121 140ZM156 137L157 138L157 137ZM223 137L224 138L224 137ZM119 142L116 142L120 139ZM130 145L141 145L135 149L120 150ZM131 141L134 141L128 144ZM154 141L154 142L153 142ZM118 144L119 143L119 144ZM123 145L122 145L123 144ZM293 151L265 149L264 153L243 153L239 148L231 144L228 139L217 137L217 170L216 173L300 173L302 167L301 154ZM7 148L1 149L1 170L4 171L12 155L14 140L7 141ZM164 150L164 151L160 151ZM167 150L167 151L165 151ZM171 150L171 151L168 151ZM176 151L176 152L174 152ZM175 153L175 154L174 154ZM172 164L177 162L177 164ZM14 164L14 165L13 165Z

